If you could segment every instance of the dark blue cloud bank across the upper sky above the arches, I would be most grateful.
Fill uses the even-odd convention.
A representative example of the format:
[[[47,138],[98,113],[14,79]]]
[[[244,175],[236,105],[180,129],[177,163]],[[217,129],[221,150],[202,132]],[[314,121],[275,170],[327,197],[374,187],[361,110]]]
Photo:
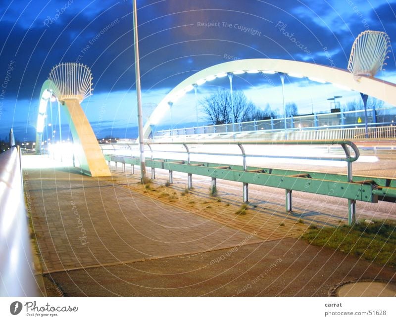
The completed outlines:
[[[17,97],[15,106],[31,99],[34,109],[43,82],[59,62],[90,66],[97,93],[135,87],[132,2],[74,0],[67,8],[66,3],[1,5],[0,85],[8,72],[5,95]],[[143,89],[173,88],[198,70],[231,59],[281,58],[329,66],[330,55],[335,66],[346,68],[365,24],[386,31],[395,45],[395,2],[370,3],[360,3],[356,12],[347,1],[336,0],[138,0]],[[387,69],[395,68],[392,52]],[[4,113],[10,109],[4,106]]]

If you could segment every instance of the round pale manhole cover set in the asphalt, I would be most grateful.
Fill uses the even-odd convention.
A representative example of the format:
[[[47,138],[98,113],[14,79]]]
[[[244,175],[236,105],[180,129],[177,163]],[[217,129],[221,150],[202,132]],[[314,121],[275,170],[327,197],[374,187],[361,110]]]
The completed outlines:
[[[337,296],[396,296],[396,284],[384,281],[348,282],[337,288]]]

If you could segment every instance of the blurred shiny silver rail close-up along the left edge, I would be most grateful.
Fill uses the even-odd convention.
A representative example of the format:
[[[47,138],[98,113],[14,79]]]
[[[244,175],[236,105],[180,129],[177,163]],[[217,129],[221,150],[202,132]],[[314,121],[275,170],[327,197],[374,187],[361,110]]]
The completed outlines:
[[[0,154],[0,296],[37,296],[19,147]]]

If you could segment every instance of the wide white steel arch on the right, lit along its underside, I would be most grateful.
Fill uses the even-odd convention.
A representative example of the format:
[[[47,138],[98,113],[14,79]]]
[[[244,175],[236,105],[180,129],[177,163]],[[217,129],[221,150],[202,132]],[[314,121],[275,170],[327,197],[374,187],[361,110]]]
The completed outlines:
[[[396,106],[396,84],[384,80],[362,76],[360,82],[356,82],[348,70],[308,62],[283,59],[241,59],[211,66],[198,71],[182,81],[154,109],[143,129],[143,137],[145,139],[149,137],[151,125],[159,122],[164,113],[169,109],[169,102],[174,103],[186,92],[193,90],[195,84],[200,85],[215,78],[226,77],[227,73],[236,71],[241,73],[246,71],[261,71],[264,73],[300,75],[314,81],[328,82],[339,87],[362,92]]]

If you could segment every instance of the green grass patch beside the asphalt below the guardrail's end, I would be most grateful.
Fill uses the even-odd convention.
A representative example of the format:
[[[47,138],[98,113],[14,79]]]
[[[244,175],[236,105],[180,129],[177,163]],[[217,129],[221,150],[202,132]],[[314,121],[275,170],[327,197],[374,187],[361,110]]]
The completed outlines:
[[[396,267],[396,221],[308,229],[301,238],[313,245],[327,246],[370,262]]]

